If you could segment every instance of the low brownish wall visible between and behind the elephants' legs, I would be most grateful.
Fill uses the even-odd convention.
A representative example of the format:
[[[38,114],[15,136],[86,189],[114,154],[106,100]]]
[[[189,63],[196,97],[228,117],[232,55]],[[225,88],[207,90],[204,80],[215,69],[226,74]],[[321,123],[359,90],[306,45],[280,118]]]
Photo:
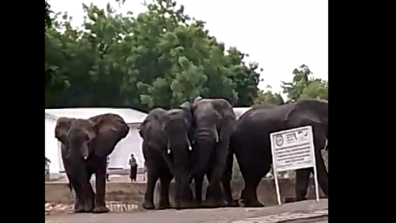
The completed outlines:
[[[280,193],[282,197],[282,201],[284,201],[285,197],[294,197],[294,180],[295,179],[279,179],[279,187]],[[173,183],[171,184],[170,193],[171,193],[171,203],[173,204],[173,194],[174,187]],[[157,186],[159,186],[157,184]],[[243,180],[233,180],[232,181],[232,191],[233,197],[235,199],[240,197],[240,193],[244,187]],[[133,182],[108,182],[107,183],[107,201],[121,201],[121,202],[130,202],[130,203],[138,203],[141,204],[143,201],[144,193],[146,189],[145,183],[133,183]],[[205,193],[206,185],[204,186]],[[159,187],[156,187],[155,190],[155,203],[158,202],[158,192]],[[322,191],[319,189],[319,193],[321,195]],[[70,191],[68,184],[65,182],[46,182],[45,183],[45,201],[52,203],[72,203],[73,198],[70,196]],[[262,179],[257,188],[257,196],[260,202],[265,203],[266,205],[276,205],[277,197],[275,190],[275,182],[271,179]],[[311,178],[309,189],[308,189],[308,198],[315,198],[315,190],[313,179]]]

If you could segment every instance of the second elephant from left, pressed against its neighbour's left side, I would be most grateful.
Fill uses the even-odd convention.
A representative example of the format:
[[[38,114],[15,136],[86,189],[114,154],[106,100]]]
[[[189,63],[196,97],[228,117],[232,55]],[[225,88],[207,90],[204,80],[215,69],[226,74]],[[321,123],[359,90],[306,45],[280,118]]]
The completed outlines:
[[[154,209],[154,189],[160,180],[157,209],[170,208],[169,185],[176,180],[175,208],[192,207],[192,192],[188,182],[188,132],[191,114],[184,109],[154,108],[140,126],[143,156],[147,166],[147,187],[143,207]]]

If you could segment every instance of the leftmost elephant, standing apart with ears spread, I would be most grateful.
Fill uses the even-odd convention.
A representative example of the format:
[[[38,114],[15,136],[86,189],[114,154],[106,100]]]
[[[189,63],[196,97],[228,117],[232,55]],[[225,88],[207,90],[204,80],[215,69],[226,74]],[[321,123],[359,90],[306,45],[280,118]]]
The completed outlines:
[[[89,119],[57,119],[55,137],[62,143],[64,170],[70,187],[76,192],[76,213],[109,211],[105,202],[106,159],[128,132],[128,125],[116,114],[103,114]],[[89,182],[93,173],[96,178],[96,194]]]

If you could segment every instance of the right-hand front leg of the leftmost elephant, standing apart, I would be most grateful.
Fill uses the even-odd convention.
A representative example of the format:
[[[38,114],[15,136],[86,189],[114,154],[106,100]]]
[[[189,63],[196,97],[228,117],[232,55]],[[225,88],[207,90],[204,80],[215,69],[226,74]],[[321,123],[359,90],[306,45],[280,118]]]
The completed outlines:
[[[93,213],[107,213],[109,208],[106,207],[106,158],[101,159],[96,164],[95,169],[95,184],[96,184],[96,195],[95,195],[95,208]]]

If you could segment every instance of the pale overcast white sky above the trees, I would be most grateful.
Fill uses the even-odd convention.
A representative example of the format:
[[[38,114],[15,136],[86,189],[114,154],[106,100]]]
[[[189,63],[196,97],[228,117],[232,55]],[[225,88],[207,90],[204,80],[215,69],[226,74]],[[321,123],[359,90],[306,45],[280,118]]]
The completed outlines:
[[[54,12],[67,11],[73,25],[84,15],[81,4],[95,3],[100,8],[113,0],[50,0]],[[144,12],[143,1],[127,0],[119,12]],[[148,1],[149,2],[149,1]],[[210,34],[226,46],[237,46],[257,61],[264,70],[261,89],[271,85],[281,91],[280,81],[290,81],[292,71],[301,64],[309,66],[316,78],[328,76],[328,1],[327,0],[178,0],[185,13],[207,22]],[[118,7],[117,7],[118,8]]]

